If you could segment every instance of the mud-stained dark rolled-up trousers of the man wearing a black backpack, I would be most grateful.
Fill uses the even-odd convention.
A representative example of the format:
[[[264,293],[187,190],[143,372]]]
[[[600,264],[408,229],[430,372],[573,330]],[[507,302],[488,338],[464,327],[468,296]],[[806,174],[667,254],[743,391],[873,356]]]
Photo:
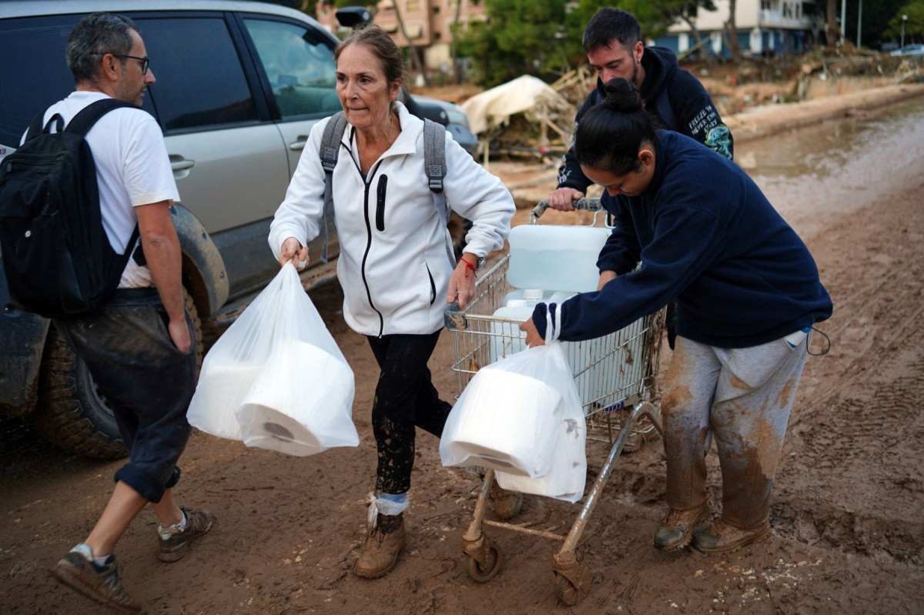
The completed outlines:
[[[55,320],[116,415],[128,449],[116,481],[152,502],[179,479],[176,460],[189,439],[186,412],[196,388],[195,346],[177,350],[168,321],[153,288],[119,289],[97,313]]]

